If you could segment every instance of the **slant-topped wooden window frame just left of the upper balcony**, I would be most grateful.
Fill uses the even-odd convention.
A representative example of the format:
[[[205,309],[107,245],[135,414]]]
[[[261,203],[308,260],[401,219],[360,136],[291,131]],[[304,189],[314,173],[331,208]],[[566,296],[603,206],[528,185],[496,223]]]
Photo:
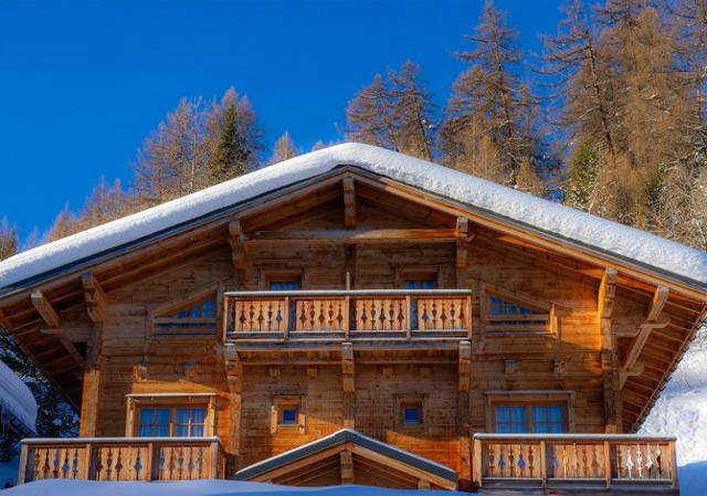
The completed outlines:
[[[191,293],[178,299],[173,299],[148,310],[147,321],[152,338],[208,338],[213,339],[221,335],[221,318],[223,314],[223,284],[214,284],[203,289]],[[213,299],[213,318],[204,318],[203,323],[211,327],[177,327],[175,329],[160,328],[160,324],[189,324],[184,319],[168,317],[178,312],[187,310],[208,299]]]

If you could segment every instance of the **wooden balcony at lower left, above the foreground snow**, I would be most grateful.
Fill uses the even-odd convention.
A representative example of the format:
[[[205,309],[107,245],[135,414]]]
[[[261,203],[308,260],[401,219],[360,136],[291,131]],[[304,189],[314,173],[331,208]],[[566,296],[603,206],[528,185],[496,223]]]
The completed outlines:
[[[223,478],[218,437],[73,437],[22,441],[18,484],[46,478],[196,481]]]

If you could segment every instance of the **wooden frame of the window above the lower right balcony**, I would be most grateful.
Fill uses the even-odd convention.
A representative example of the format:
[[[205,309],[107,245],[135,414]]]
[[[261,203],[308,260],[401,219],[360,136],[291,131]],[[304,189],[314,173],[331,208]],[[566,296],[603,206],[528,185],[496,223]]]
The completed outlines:
[[[574,392],[573,391],[486,391],[486,431],[496,432],[496,407],[560,405],[564,409],[564,432],[574,432]],[[528,433],[532,433],[531,411],[526,415]]]

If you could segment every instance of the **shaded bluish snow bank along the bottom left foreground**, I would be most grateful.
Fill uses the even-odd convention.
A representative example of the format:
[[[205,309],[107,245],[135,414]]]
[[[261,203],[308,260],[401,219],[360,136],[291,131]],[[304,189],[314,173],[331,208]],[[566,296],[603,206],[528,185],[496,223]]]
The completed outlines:
[[[381,489],[367,486],[292,487],[240,481],[190,481],[179,483],[96,483],[88,481],[41,481],[7,489],[2,496],[440,496],[445,492]],[[453,494],[453,493],[447,493]],[[458,493],[455,493],[458,494]]]

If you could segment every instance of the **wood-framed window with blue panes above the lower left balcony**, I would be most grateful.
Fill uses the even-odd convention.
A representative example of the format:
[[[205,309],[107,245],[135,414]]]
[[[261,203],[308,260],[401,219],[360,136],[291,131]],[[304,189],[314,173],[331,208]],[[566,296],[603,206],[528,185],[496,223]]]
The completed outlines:
[[[215,394],[127,394],[126,436],[213,435]]]

